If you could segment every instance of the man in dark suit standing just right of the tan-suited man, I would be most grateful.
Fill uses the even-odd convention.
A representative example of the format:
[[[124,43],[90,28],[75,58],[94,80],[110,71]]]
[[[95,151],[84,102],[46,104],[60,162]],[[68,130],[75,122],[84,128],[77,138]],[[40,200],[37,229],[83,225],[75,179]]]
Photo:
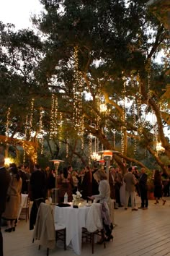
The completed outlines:
[[[148,209],[148,186],[147,186],[148,175],[146,174],[146,169],[141,168],[141,175],[139,178],[139,188],[140,188],[140,199],[141,206],[139,209]]]

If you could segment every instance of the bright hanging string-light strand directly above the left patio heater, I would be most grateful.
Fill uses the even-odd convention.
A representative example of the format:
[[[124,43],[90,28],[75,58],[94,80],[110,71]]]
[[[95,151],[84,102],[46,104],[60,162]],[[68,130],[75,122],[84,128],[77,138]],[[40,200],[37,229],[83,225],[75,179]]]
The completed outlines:
[[[57,135],[57,115],[58,115],[58,98],[57,95],[51,95],[51,111],[50,111],[50,139]]]

